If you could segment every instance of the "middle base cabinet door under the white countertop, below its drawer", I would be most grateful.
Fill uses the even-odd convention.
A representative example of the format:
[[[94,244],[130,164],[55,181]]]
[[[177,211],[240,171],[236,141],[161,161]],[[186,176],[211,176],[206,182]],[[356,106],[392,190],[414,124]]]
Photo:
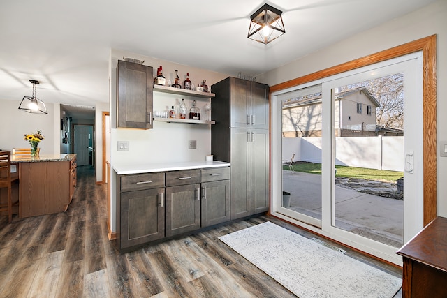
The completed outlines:
[[[166,187],[166,237],[200,228],[200,184]]]

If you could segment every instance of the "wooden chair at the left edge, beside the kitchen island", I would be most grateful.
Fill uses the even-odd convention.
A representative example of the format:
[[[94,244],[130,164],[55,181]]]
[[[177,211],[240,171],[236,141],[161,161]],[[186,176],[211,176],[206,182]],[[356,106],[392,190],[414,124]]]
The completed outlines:
[[[0,151],[0,188],[8,189],[8,202],[0,204],[0,211],[8,211],[8,222],[13,221],[13,182],[19,177],[11,173],[11,152]]]

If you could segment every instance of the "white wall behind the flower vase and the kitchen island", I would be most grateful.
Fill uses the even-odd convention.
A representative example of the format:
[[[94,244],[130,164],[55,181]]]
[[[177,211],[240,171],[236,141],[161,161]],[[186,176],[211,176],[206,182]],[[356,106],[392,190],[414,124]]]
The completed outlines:
[[[0,149],[30,147],[24,134],[40,130],[45,137],[39,144],[41,154],[59,154],[59,104],[45,103],[48,114],[23,112],[18,109],[19,105],[20,100],[0,100]]]

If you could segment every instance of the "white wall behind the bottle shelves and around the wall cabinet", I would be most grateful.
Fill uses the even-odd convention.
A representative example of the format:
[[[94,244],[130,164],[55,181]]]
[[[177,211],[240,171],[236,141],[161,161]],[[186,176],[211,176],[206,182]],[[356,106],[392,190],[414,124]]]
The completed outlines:
[[[211,154],[211,128],[210,125],[197,124],[175,124],[154,122],[154,128],[149,130],[116,128],[116,68],[118,60],[123,57],[143,60],[144,65],[154,68],[163,66],[163,75],[166,81],[170,79],[174,84],[175,70],[178,70],[180,83],[182,84],[189,73],[189,78],[194,85],[206,80],[208,87],[219,82],[227,74],[214,73],[209,70],[194,68],[183,64],[175,64],[170,61],[146,57],[140,54],[124,52],[121,50],[110,51],[110,162],[113,165],[118,164],[141,164],[141,163],[170,163],[181,161],[204,161],[205,156]],[[212,90],[211,90],[212,92]],[[202,117],[205,117],[205,103],[210,99],[198,99],[190,96],[179,96],[172,94],[163,94],[154,92],[154,111],[167,110],[172,105],[178,105],[184,98],[188,109],[191,107],[192,100],[197,100]],[[196,140],[197,149],[188,149],[188,141]],[[128,141],[129,151],[118,151],[117,142]],[[116,202],[116,181],[112,177],[110,181],[111,195],[111,229],[116,231],[115,223],[115,202]]]

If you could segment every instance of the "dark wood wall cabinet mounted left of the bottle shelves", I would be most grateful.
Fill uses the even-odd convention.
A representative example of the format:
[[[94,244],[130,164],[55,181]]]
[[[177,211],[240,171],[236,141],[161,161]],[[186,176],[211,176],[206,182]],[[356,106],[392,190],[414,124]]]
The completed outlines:
[[[151,66],[118,61],[118,128],[152,128],[152,71]]]

